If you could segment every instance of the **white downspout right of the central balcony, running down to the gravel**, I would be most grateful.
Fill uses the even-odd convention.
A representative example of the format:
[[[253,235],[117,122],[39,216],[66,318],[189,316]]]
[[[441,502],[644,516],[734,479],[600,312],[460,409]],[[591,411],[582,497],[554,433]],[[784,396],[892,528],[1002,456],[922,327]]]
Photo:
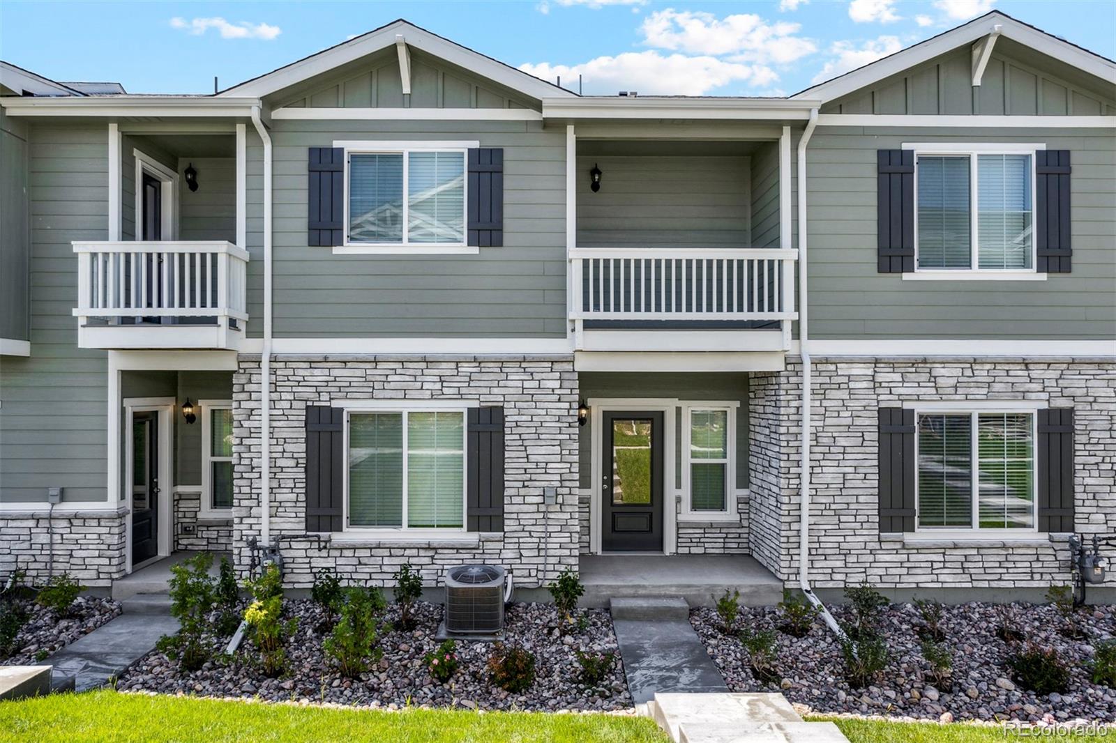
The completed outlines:
[[[818,125],[818,109],[810,109],[810,120],[798,141],[798,344],[802,357],[802,445],[799,475],[801,513],[799,518],[800,533],[798,537],[798,587],[806,598],[818,608],[821,618],[838,637],[844,637],[837,620],[810,588],[810,349],[807,342],[807,301],[806,290],[806,146],[814,136]]]

